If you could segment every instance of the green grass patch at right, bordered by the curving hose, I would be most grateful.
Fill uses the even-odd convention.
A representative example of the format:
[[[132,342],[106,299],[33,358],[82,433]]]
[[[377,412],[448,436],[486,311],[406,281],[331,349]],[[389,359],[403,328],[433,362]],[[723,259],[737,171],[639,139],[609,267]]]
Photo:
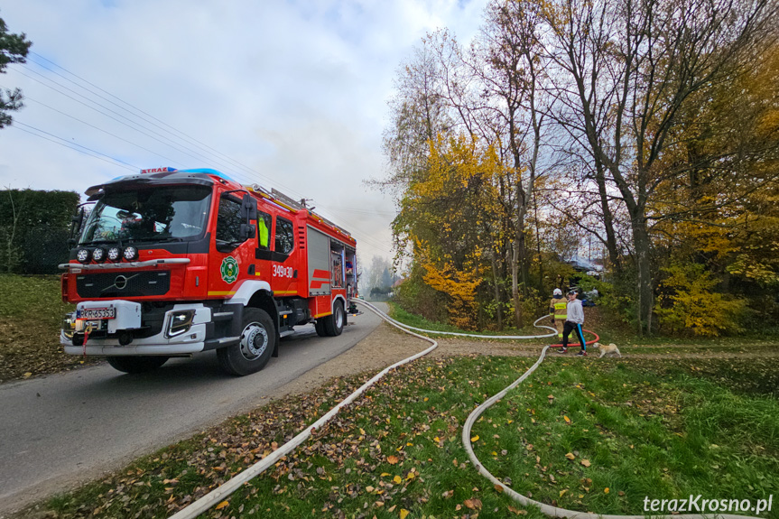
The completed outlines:
[[[522,494],[570,509],[640,514],[645,496],[755,500],[779,488],[775,398],[631,361],[557,359],[533,378],[474,428],[479,458]],[[505,445],[524,449],[501,455]]]

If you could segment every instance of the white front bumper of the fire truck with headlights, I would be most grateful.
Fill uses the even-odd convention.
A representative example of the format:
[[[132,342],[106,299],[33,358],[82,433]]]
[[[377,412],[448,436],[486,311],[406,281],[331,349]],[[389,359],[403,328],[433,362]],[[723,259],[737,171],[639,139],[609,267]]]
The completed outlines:
[[[143,331],[144,316],[140,303],[124,300],[87,301],[80,302],[77,306],[77,310],[81,312],[105,308],[116,309],[116,318],[104,321],[76,320],[75,313],[70,314],[70,319],[66,320],[69,324],[60,331],[60,344],[65,353],[88,356],[172,356],[188,355],[205,348],[207,325],[211,322],[212,312],[202,303],[172,305],[164,312],[162,329],[145,337],[147,334]],[[173,318],[180,316],[182,312],[187,313],[186,310],[190,310],[191,315],[189,326],[172,332]],[[96,330],[94,336],[88,336],[86,345],[77,346],[79,342],[83,343],[82,330],[90,323],[91,328]],[[76,344],[74,338],[77,339]]]

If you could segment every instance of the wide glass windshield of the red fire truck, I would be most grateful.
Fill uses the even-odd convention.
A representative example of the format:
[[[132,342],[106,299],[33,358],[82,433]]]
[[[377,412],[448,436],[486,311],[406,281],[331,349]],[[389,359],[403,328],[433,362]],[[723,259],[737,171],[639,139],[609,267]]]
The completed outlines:
[[[97,201],[79,244],[184,241],[203,235],[211,190],[200,186],[109,191]]]

